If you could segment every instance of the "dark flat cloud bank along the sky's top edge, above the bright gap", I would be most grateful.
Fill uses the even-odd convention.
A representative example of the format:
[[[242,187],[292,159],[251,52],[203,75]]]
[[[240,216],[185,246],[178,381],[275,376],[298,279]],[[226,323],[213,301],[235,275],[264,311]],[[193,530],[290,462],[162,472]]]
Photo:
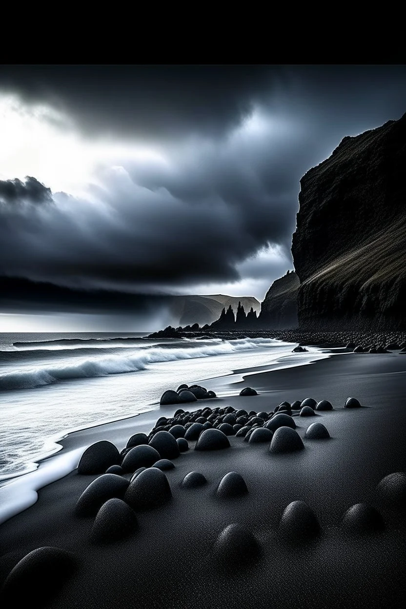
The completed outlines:
[[[0,90],[68,111],[99,135],[225,133],[278,82],[275,66],[0,66]]]

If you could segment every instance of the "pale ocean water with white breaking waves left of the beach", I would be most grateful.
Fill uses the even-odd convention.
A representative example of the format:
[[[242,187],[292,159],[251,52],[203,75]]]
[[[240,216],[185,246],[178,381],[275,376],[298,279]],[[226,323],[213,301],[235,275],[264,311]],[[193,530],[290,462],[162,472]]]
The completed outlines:
[[[0,334],[0,484],[35,470],[68,432],[157,408],[162,393],[183,382],[217,379],[208,389],[229,395],[241,379],[233,371],[309,363],[292,354],[293,343],[274,339],[146,336]]]

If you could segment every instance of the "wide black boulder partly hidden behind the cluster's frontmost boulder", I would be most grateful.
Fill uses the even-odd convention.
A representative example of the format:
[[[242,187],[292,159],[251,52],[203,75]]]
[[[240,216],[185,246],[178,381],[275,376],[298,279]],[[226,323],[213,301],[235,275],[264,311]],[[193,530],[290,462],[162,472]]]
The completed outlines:
[[[108,499],[124,497],[128,484],[128,480],[116,474],[99,476],[80,495],[75,505],[75,514],[94,516]]]

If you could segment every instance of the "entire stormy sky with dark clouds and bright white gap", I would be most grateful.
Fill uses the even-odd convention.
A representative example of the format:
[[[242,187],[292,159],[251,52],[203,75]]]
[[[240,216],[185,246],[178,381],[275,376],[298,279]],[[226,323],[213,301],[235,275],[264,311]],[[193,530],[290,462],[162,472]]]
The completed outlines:
[[[0,66],[0,331],[262,300],[301,176],[405,111],[405,66]]]

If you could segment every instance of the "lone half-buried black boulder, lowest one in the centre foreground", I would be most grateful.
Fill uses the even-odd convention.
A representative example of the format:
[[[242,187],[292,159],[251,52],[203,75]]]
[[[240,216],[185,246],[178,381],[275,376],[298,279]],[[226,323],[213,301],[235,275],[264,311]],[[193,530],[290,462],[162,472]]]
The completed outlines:
[[[240,524],[229,524],[215,541],[213,553],[223,565],[233,568],[256,560],[261,549],[250,530]]]

